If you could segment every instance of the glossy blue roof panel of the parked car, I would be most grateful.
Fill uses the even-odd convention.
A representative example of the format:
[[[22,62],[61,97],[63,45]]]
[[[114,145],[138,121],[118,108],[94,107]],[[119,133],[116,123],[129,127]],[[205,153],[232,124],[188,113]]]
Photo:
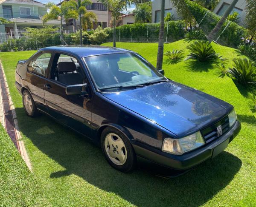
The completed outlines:
[[[58,51],[69,54],[74,54],[79,57],[90,57],[95,55],[103,54],[116,54],[116,53],[133,53],[133,51],[122,49],[122,48],[112,48],[98,45],[67,45],[67,46],[52,46],[47,48],[42,48],[39,51]]]

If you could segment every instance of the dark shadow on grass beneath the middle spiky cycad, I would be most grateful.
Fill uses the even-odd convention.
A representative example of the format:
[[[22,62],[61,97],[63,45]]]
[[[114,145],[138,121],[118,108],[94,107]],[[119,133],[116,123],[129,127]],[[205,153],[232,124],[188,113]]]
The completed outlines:
[[[209,70],[212,70],[216,68],[215,62],[198,62],[194,60],[187,60],[186,66],[188,71],[193,72],[208,72]]]

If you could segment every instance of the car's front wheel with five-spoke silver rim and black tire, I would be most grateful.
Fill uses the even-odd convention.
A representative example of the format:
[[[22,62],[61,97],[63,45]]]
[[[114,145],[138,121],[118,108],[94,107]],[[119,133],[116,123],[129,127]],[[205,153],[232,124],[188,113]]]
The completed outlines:
[[[130,141],[115,128],[105,128],[101,134],[101,147],[108,163],[123,173],[130,172],[136,165],[136,156]]]

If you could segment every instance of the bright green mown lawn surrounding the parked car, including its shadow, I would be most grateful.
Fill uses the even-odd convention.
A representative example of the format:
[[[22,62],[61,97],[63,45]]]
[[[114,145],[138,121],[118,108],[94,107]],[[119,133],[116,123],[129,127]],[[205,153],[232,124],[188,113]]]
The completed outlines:
[[[165,44],[165,51],[186,50],[186,45],[184,40]],[[232,48],[212,45],[229,60],[238,55]],[[117,47],[137,51],[156,65],[155,43],[117,43]],[[241,132],[215,159],[178,178],[162,179],[145,170],[129,174],[113,170],[101,150],[83,137],[47,116],[26,116],[14,70],[17,60],[34,52],[1,53],[0,58],[34,177],[52,206],[256,206],[256,119],[248,99],[230,78],[218,77],[220,71],[214,66],[180,62],[163,68],[166,77],[234,105]]]

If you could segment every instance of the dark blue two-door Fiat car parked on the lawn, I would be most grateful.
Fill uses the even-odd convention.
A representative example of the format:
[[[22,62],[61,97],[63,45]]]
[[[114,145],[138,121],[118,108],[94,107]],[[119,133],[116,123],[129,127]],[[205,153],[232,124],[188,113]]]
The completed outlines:
[[[241,125],[232,105],[163,76],[139,54],[49,47],[16,68],[29,116],[46,113],[101,145],[109,164],[187,170],[223,151]]]

